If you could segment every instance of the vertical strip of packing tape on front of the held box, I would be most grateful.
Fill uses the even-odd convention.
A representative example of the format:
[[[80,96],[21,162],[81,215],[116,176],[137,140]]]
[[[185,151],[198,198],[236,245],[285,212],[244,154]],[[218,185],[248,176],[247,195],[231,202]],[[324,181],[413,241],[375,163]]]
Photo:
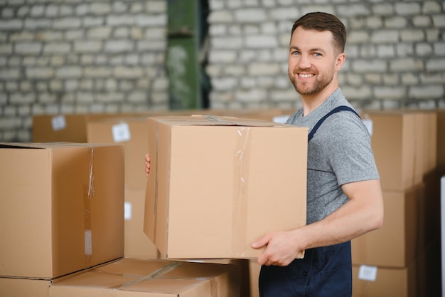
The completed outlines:
[[[245,253],[247,242],[247,198],[250,170],[250,127],[240,127],[237,130],[237,150],[234,156],[233,189],[232,195],[232,249],[237,256]]]

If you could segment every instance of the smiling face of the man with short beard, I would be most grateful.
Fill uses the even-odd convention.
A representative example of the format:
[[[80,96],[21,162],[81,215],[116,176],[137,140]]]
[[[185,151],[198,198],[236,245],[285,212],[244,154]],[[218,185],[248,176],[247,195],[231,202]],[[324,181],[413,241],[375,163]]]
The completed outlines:
[[[289,78],[301,95],[315,95],[333,81],[338,55],[330,31],[297,27],[289,45]]]

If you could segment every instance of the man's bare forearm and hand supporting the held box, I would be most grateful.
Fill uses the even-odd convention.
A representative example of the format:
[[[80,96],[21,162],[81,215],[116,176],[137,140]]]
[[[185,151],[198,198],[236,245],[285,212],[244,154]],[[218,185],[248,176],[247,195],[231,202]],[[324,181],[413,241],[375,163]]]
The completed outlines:
[[[349,201],[318,222],[289,231],[274,231],[252,244],[266,246],[258,263],[286,266],[299,251],[340,244],[379,229],[383,224],[383,197],[378,179],[343,184]]]

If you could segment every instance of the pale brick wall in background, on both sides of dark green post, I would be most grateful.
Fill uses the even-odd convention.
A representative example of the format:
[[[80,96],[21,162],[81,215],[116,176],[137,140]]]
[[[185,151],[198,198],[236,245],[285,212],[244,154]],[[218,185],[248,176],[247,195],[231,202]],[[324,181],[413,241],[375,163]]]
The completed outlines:
[[[348,28],[343,93],[357,108],[445,108],[441,1],[208,0],[212,108],[297,108],[293,22]],[[166,0],[0,0],[0,141],[31,141],[32,116],[168,108]]]

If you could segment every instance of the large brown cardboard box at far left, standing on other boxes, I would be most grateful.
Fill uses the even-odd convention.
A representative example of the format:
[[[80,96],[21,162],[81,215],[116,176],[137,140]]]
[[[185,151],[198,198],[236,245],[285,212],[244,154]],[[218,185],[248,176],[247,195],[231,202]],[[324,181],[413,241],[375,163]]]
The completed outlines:
[[[0,276],[50,279],[124,254],[121,145],[0,144]]]

